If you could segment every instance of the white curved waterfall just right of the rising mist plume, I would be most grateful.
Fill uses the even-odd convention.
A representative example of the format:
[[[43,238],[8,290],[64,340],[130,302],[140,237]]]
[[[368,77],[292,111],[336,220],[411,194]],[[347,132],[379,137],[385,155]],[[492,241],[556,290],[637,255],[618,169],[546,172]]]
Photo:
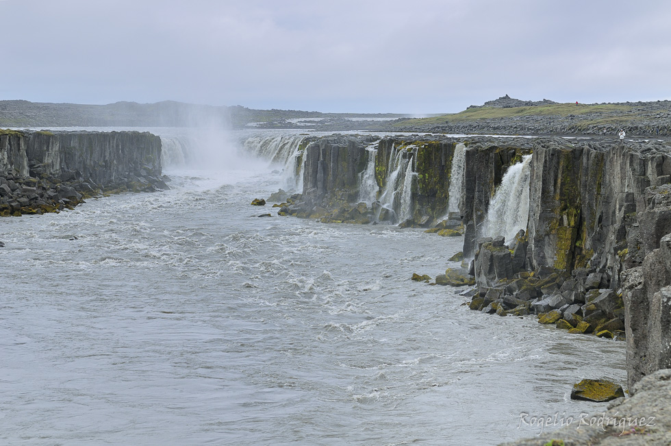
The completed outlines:
[[[252,136],[242,143],[244,151],[283,166],[283,187],[290,190],[303,190],[303,167],[305,151],[301,143],[305,136]]]

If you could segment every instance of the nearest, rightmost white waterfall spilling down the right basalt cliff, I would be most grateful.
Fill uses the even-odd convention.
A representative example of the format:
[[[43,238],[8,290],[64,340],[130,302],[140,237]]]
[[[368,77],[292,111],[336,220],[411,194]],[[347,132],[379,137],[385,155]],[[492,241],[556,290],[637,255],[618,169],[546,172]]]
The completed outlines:
[[[520,230],[527,230],[529,219],[529,179],[531,155],[508,168],[501,186],[490,201],[485,222],[485,236],[504,236],[506,244],[514,240]]]

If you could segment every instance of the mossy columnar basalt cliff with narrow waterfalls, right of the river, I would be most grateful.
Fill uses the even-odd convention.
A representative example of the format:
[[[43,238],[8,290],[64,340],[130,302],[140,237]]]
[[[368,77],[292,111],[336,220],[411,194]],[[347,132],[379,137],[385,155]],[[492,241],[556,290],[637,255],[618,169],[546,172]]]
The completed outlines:
[[[669,367],[664,287],[671,267],[663,259],[671,251],[660,245],[671,232],[666,143],[332,136],[307,145],[303,194],[279,213],[446,227],[457,145],[465,148],[458,223],[479,285],[470,308],[535,312],[574,333],[626,332],[630,385]],[[527,195],[507,199],[527,199],[528,217],[504,240],[490,211],[506,175],[524,171],[522,162],[529,163]],[[521,201],[514,206],[526,209]]]

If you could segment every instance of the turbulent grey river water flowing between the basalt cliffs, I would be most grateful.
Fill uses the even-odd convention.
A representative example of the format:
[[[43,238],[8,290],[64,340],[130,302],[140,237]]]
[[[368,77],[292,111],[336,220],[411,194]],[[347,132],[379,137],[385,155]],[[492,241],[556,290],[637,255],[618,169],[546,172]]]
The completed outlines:
[[[273,169],[168,166],[168,191],[0,220],[1,443],[492,445],[624,382],[624,343],[409,280],[459,238],[250,206]]]

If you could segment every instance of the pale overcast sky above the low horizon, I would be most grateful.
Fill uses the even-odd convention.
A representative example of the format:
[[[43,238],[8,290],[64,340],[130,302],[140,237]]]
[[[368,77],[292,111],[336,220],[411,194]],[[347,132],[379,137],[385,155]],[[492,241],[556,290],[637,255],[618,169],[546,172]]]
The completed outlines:
[[[667,0],[0,0],[0,100],[459,112],[671,99]]]

